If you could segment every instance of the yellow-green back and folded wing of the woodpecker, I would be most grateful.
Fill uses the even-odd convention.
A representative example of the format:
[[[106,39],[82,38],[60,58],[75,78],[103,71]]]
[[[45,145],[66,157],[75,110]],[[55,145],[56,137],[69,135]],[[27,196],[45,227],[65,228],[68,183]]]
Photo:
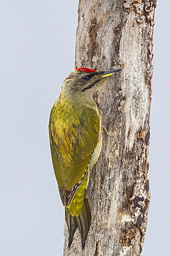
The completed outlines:
[[[98,144],[100,118],[92,107],[61,106],[50,114],[50,148],[63,205],[69,205]]]

